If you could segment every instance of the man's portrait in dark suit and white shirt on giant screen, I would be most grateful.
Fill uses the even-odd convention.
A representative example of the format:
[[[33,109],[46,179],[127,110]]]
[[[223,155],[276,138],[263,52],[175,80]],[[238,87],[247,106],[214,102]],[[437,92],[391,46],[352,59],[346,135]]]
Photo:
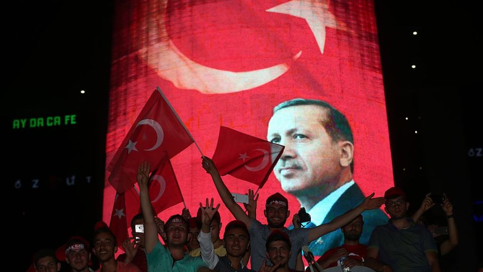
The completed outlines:
[[[285,146],[274,168],[282,189],[311,216],[306,228],[328,223],[359,205],[364,195],[353,179],[354,139],[347,118],[327,102],[293,99],[280,103],[268,124],[267,139]],[[375,226],[387,223],[379,209],[365,211],[360,238],[367,244]],[[344,243],[340,230],[310,244],[315,255]]]

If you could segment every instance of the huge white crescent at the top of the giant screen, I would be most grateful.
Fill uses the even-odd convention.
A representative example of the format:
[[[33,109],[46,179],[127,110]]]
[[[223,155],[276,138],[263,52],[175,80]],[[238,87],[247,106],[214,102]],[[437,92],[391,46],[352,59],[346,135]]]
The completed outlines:
[[[231,72],[201,65],[185,54],[169,39],[165,26],[168,1],[162,1],[164,7],[160,15],[159,36],[162,41],[139,50],[142,59],[153,67],[157,75],[173,83],[178,89],[197,90],[203,94],[234,93],[257,88],[285,74],[293,61],[302,51],[290,60],[249,72]]]

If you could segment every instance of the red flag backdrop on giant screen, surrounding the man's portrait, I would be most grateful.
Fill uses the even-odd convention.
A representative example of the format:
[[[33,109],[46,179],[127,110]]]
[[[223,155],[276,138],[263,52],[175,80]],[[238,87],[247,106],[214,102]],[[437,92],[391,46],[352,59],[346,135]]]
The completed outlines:
[[[325,100],[352,127],[354,180],[362,191],[382,195],[392,184],[373,1],[131,0],[116,2],[113,26],[108,163],[160,86],[207,156],[220,125],[265,139],[280,102]],[[194,145],[171,161],[192,212],[205,197],[220,201]],[[233,192],[256,188],[223,179]],[[105,219],[113,191],[106,181]],[[275,191],[283,192],[271,174],[261,201]],[[297,211],[298,201],[284,195]],[[181,210],[177,205],[160,218]],[[220,213],[223,222],[232,220],[225,208]]]

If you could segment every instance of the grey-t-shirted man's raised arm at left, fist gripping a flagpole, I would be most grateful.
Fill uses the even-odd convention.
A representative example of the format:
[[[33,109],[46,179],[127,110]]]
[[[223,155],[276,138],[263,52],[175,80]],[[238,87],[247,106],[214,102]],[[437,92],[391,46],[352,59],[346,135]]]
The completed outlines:
[[[235,202],[235,200],[233,200],[233,196],[231,195],[226,185],[223,183],[223,180],[221,180],[220,173],[218,173],[218,169],[216,169],[213,161],[208,157],[202,158],[202,166],[206,170],[206,173],[211,175],[216,190],[218,191],[221,200],[223,201],[226,208],[228,208],[228,210],[236,218],[236,220],[243,221],[250,229],[250,227],[252,226],[252,219],[247,214],[245,214],[243,209],[241,209],[241,207]]]

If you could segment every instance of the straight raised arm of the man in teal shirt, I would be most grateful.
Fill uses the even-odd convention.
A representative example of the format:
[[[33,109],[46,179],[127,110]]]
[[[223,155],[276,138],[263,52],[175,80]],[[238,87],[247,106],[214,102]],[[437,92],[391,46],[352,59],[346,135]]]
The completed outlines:
[[[142,217],[144,219],[144,249],[151,252],[157,242],[157,226],[154,222],[151,200],[149,199],[148,181],[151,164],[141,163],[137,168],[137,183],[139,184],[139,198],[141,200]]]

